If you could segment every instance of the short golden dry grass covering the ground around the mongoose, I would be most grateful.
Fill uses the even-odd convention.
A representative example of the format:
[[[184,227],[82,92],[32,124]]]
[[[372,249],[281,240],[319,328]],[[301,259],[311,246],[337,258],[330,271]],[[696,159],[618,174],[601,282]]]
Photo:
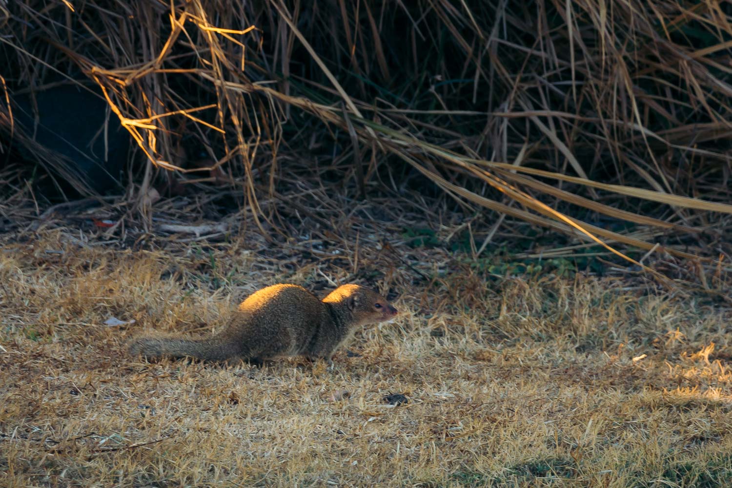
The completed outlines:
[[[209,333],[255,288],[347,273],[286,271],[246,240],[100,242],[4,238],[4,487],[732,483],[731,312],[711,302],[579,274],[489,282],[455,260],[411,284],[362,244],[359,266],[384,271],[403,314],[357,334],[361,356],[340,351],[333,371],[147,364],[121,349],[144,328]],[[386,405],[392,393],[408,403]]]

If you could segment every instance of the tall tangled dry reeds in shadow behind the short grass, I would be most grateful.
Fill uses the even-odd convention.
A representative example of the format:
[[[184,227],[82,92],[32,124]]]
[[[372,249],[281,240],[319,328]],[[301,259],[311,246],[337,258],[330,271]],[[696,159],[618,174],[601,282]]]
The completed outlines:
[[[725,294],[727,3],[32,0],[0,13],[9,94],[72,78],[130,132],[145,163],[123,181],[124,225],[152,228],[159,194],[241,206],[271,232],[261,203],[302,180],[438,189],[665,285],[646,253],[700,257],[681,285]],[[43,200],[22,183],[45,177],[38,162],[83,191],[37,152],[4,173],[11,209]]]

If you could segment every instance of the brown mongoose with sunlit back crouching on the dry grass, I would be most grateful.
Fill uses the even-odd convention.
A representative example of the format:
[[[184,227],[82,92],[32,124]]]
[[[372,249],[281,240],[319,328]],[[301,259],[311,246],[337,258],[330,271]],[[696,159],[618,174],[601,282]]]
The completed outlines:
[[[391,320],[397,309],[373,290],[343,285],[323,300],[298,285],[255,291],[218,334],[203,339],[143,336],[132,339],[132,356],[191,356],[208,361],[261,363],[283,356],[331,360],[360,326]]]

